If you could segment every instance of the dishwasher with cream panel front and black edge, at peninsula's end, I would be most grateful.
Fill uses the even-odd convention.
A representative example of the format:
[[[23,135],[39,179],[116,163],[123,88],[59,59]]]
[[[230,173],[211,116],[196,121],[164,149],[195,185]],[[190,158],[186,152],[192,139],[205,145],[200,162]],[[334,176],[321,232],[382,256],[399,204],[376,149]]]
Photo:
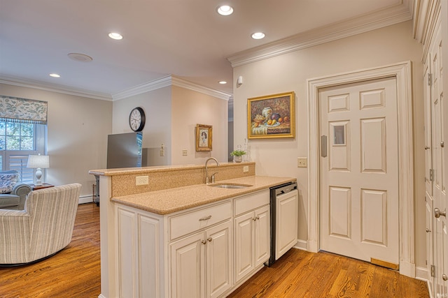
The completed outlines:
[[[297,183],[289,182],[270,188],[271,256],[267,266],[297,243]]]

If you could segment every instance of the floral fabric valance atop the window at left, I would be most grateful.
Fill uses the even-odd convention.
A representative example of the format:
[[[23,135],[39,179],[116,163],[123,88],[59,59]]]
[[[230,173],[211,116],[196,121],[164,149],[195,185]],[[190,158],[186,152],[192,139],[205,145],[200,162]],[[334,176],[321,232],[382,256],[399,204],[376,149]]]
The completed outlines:
[[[47,102],[0,95],[0,120],[47,124]]]

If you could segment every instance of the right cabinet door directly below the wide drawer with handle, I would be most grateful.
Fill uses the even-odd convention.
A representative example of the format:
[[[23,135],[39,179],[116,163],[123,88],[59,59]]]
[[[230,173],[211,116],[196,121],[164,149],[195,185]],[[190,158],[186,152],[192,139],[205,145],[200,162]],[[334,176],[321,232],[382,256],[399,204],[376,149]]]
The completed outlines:
[[[227,221],[206,231],[207,297],[218,297],[232,285],[231,230],[232,221]]]

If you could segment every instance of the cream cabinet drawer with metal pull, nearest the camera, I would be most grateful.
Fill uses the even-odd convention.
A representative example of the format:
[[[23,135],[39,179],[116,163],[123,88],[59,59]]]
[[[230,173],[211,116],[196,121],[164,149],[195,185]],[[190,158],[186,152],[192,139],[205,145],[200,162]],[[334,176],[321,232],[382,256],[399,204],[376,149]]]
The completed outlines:
[[[176,239],[232,217],[230,201],[169,218],[170,239]]]

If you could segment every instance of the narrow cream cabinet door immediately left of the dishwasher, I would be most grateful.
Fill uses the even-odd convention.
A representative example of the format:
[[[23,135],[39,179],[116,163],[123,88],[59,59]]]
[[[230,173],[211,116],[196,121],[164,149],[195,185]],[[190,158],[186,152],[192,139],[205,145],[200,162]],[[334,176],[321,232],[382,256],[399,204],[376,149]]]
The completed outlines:
[[[269,260],[269,206],[255,210],[255,267]]]

